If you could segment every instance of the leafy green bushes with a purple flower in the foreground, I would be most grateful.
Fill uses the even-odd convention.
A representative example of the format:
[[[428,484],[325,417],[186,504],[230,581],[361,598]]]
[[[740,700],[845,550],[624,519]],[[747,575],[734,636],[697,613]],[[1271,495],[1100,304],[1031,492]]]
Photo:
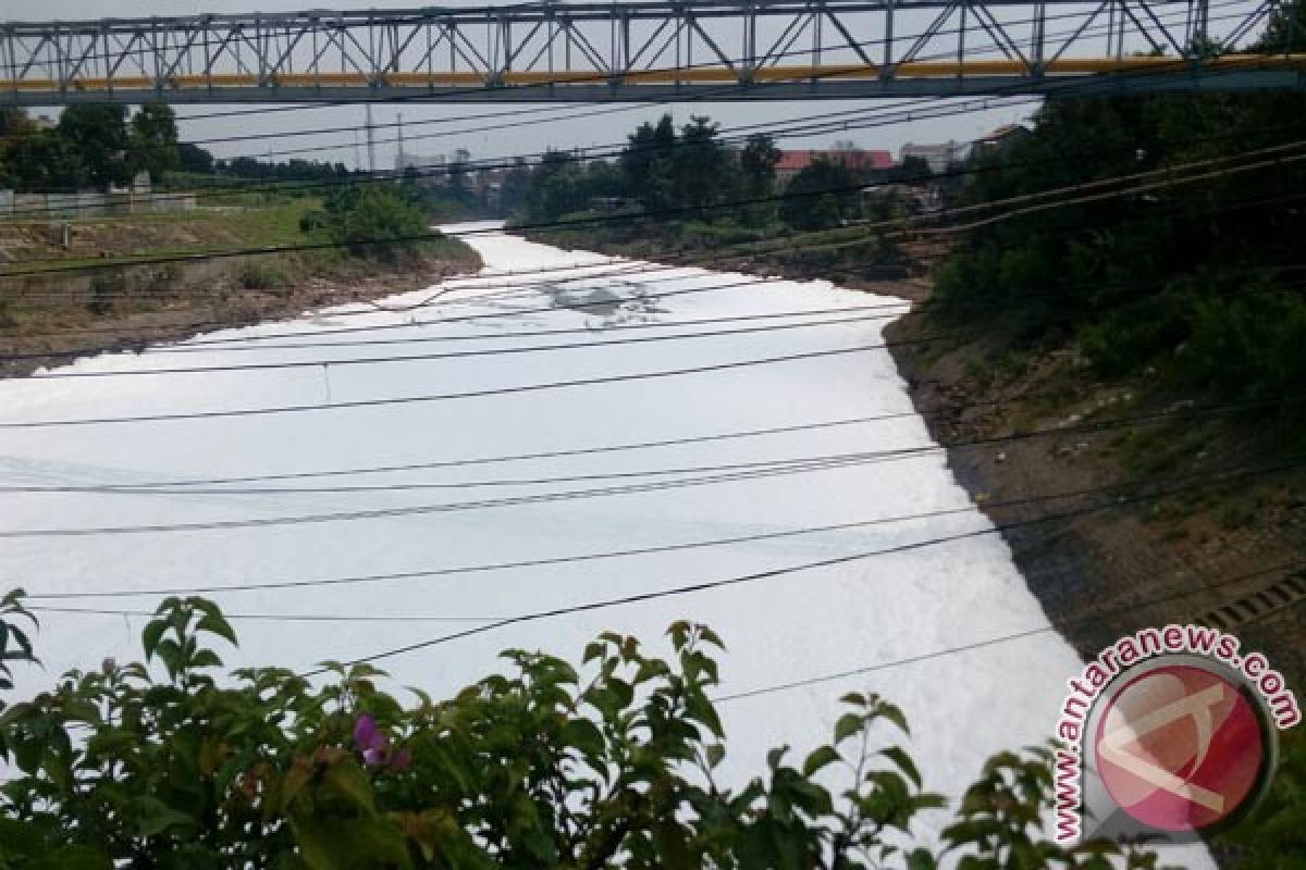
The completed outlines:
[[[21,593],[0,601],[4,681],[31,659]],[[673,657],[603,634],[580,669],[539,652],[435,700],[401,703],[366,664],[323,680],[219,674],[236,635],[212,603],[168,599],[145,663],[104,661],[0,711],[0,867],[964,867],[1106,870],[1114,847],[1045,839],[1045,749],[990,759],[943,831],[913,844],[922,789],[891,703],[842,698],[833,741],[717,783],[720,639],[687,622]],[[829,783],[845,783],[831,788]],[[1258,845],[1258,849],[1262,847]],[[1128,867],[1155,856],[1126,853]]]

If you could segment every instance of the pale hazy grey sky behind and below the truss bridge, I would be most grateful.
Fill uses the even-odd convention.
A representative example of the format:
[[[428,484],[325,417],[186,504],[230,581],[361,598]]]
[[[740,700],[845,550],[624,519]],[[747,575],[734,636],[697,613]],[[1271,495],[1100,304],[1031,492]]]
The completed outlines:
[[[106,4],[103,0],[4,0],[3,14],[8,20],[55,20],[55,18],[97,18],[111,13],[114,17],[133,16],[167,16],[192,14],[201,12],[290,12],[300,9],[307,4],[287,3],[285,0],[115,0]],[[324,4],[326,5],[326,4]],[[334,0],[332,8],[371,9],[384,8],[385,4],[375,0]],[[398,4],[392,4],[398,5]],[[409,4],[404,4],[409,5]],[[445,0],[443,5],[485,5],[483,3],[457,3]],[[550,108],[541,112],[537,106],[418,106],[405,103],[404,106],[379,103],[374,106],[372,115],[377,124],[390,124],[400,111],[405,121],[405,151],[418,155],[434,155],[452,153],[457,147],[468,149],[474,158],[502,158],[515,154],[538,153],[549,146],[559,147],[593,147],[619,142],[626,133],[633,129],[640,121],[656,119],[662,112],[671,112],[678,123],[683,123],[690,115],[709,115],[721,123],[724,128],[744,124],[782,124],[786,120],[814,115],[819,112],[833,112],[852,108],[868,108],[876,112],[896,113],[899,119],[883,125],[835,133],[829,136],[785,138],[781,147],[827,147],[835,140],[846,138],[866,149],[885,149],[895,154],[904,142],[936,142],[944,140],[973,140],[985,132],[1021,117],[1028,117],[1036,108],[1033,103],[955,115],[952,117],[930,120],[905,120],[901,112],[912,107],[917,113],[938,112],[944,100],[838,100],[838,102],[790,102],[790,103],[673,103],[665,106],[629,106],[620,107],[622,111],[609,112],[615,108],[613,104],[585,106],[569,104]],[[289,112],[265,112],[257,115],[243,115],[223,119],[204,119],[185,121],[189,115],[202,115],[221,111],[218,106],[179,106],[178,113],[183,119],[182,137],[184,140],[206,140],[223,136],[240,136],[247,133],[290,133],[311,130],[324,127],[362,127],[364,123],[363,106],[303,108]],[[597,115],[594,112],[598,111]],[[526,113],[522,113],[526,112]],[[457,121],[469,115],[494,113],[496,117],[481,117],[475,120]],[[581,115],[582,117],[568,116]],[[584,117],[589,115],[589,117]],[[499,120],[502,117],[502,120]],[[558,120],[551,120],[558,119]],[[492,127],[509,120],[530,120],[530,124],[513,129],[471,129]],[[423,124],[423,121],[440,121],[438,124]],[[452,121],[452,123],[447,123]],[[535,123],[547,121],[547,123]],[[466,130],[466,132],[464,132]],[[394,138],[393,128],[376,130],[377,140]],[[355,146],[353,133],[320,133],[313,136],[278,137],[259,142],[229,142],[209,143],[212,151],[222,157],[240,154],[268,155],[269,151],[285,151],[287,149],[336,146],[332,150],[300,154],[299,157],[341,160],[350,166],[355,164]],[[367,160],[367,150],[363,142],[366,137],[358,134],[359,146],[357,149],[363,163]],[[376,146],[377,168],[393,166],[397,145],[394,142],[379,142]],[[279,159],[293,157],[290,154],[274,155]]]

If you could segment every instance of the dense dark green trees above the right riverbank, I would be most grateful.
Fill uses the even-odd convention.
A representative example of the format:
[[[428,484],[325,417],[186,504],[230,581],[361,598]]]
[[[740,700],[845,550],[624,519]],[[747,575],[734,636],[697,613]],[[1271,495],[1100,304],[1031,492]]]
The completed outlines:
[[[1251,51],[1284,50],[1302,23],[1301,7],[1276,12]],[[981,159],[963,198],[982,203],[1212,158],[1237,164],[1247,151],[1302,140],[1299,90],[1049,99],[1032,136]],[[1303,197],[1306,167],[1282,160],[1016,214],[965,236],[938,275],[936,301],[944,317],[1000,321],[1028,346],[1072,347],[1104,378],[1151,369],[1171,386],[1299,417]]]

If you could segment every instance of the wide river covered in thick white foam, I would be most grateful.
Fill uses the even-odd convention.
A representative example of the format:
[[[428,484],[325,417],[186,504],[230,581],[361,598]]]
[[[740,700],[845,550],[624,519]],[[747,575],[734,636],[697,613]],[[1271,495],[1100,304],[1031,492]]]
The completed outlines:
[[[507,647],[538,647],[579,660],[588,639],[611,629],[665,648],[666,626],[691,618],[710,625],[729,647],[721,695],[870,668],[724,702],[730,750],[725,772],[734,780],[760,770],[771,746],[790,743],[804,753],[828,740],[840,713],[837,698],[852,690],[876,691],[904,707],[927,785],[948,796],[960,794],[993,751],[1050,734],[1064,681],[1077,667],[1060,637],[1043,631],[932,655],[1037,629],[1045,620],[999,536],[957,537],[990,523],[974,510],[942,453],[866,455],[930,446],[893,361],[876,347],[888,317],[904,310],[897,300],[820,282],[631,267],[491,232],[487,224],[462,230],[479,232],[468,241],[486,262],[485,278],[380,303],[390,310],[351,305],[141,355],[82,360],[55,374],[313,365],[0,383],[0,423],[283,406],[315,410],[5,428],[0,429],[0,480],[121,487],[791,430],[569,457],[246,480],[213,484],[200,493],[174,487],[153,494],[0,494],[5,587],[24,586],[34,593],[223,587],[754,539],[529,569],[210,595],[226,610],[246,617],[409,620],[235,621],[242,646],[226,656],[227,664],[304,668],[475,625],[438,618],[516,616],[921,544],[769,579],[511,625],[381,664],[397,683],[421,685],[439,697],[491,672],[496,652]],[[520,274],[504,274],[508,270]],[[593,277],[613,271],[624,274]],[[585,274],[592,277],[577,280]],[[720,320],[743,316],[754,320]],[[825,322],[832,318],[844,322]],[[756,330],[794,322],[816,325]],[[614,329],[632,325],[652,326]],[[585,331],[538,334],[575,329]],[[624,340],[724,330],[754,331]],[[393,343],[407,339],[431,340]],[[614,344],[614,339],[623,343]],[[363,343],[377,340],[387,343]],[[294,347],[306,343],[312,347]],[[451,351],[562,343],[579,347],[448,356]],[[345,363],[432,353],[444,356]],[[704,368],[709,370],[611,380]],[[589,383],[534,389],[564,381]],[[475,395],[448,398],[468,393]],[[407,400],[431,395],[447,398]],[[396,398],[406,400],[387,402]],[[859,417],[879,419],[842,423]],[[793,429],[808,424],[821,425]],[[757,464],[747,466],[748,473],[720,468],[814,458],[825,466]],[[669,470],[675,471],[629,476]],[[759,470],[768,473],[752,473]],[[597,477],[610,473],[623,476]],[[569,480],[547,480],[559,476]],[[716,479],[704,483],[705,476]],[[546,483],[530,483],[539,479]],[[394,483],[478,485],[285,492]],[[260,488],[281,492],[248,492]],[[575,496],[594,489],[607,492]],[[461,506],[451,510],[448,505]],[[390,509],[384,517],[338,517]],[[930,513],[935,515],[757,540],[797,528]],[[286,518],[312,519],[263,523]],[[176,528],[195,523],[226,524]],[[123,531],[142,526],[172,528]],[[953,540],[927,544],[939,537]],[[157,596],[38,604],[141,610],[151,609]],[[21,673],[18,693],[48,685],[65,668],[138,655],[142,625],[144,618],[132,614],[43,613],[37,643],[44,670]],[[904,663],[913,659],[918,660]],[[880,668],[885,663],[899,664]]]

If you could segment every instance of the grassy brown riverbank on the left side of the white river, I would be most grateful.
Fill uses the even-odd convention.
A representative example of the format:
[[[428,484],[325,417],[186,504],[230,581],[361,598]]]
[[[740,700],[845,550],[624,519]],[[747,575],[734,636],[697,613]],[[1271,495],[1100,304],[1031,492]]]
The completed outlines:
[[[419,290],[481,267],[479,256],[462,241],[435,239],[385,257],[323,249],[3,275],[135,254],[302,245],[315,240],[299,228],[313,205],[76,222],[68,247],[59,223],[0,223],[0,377]]]

